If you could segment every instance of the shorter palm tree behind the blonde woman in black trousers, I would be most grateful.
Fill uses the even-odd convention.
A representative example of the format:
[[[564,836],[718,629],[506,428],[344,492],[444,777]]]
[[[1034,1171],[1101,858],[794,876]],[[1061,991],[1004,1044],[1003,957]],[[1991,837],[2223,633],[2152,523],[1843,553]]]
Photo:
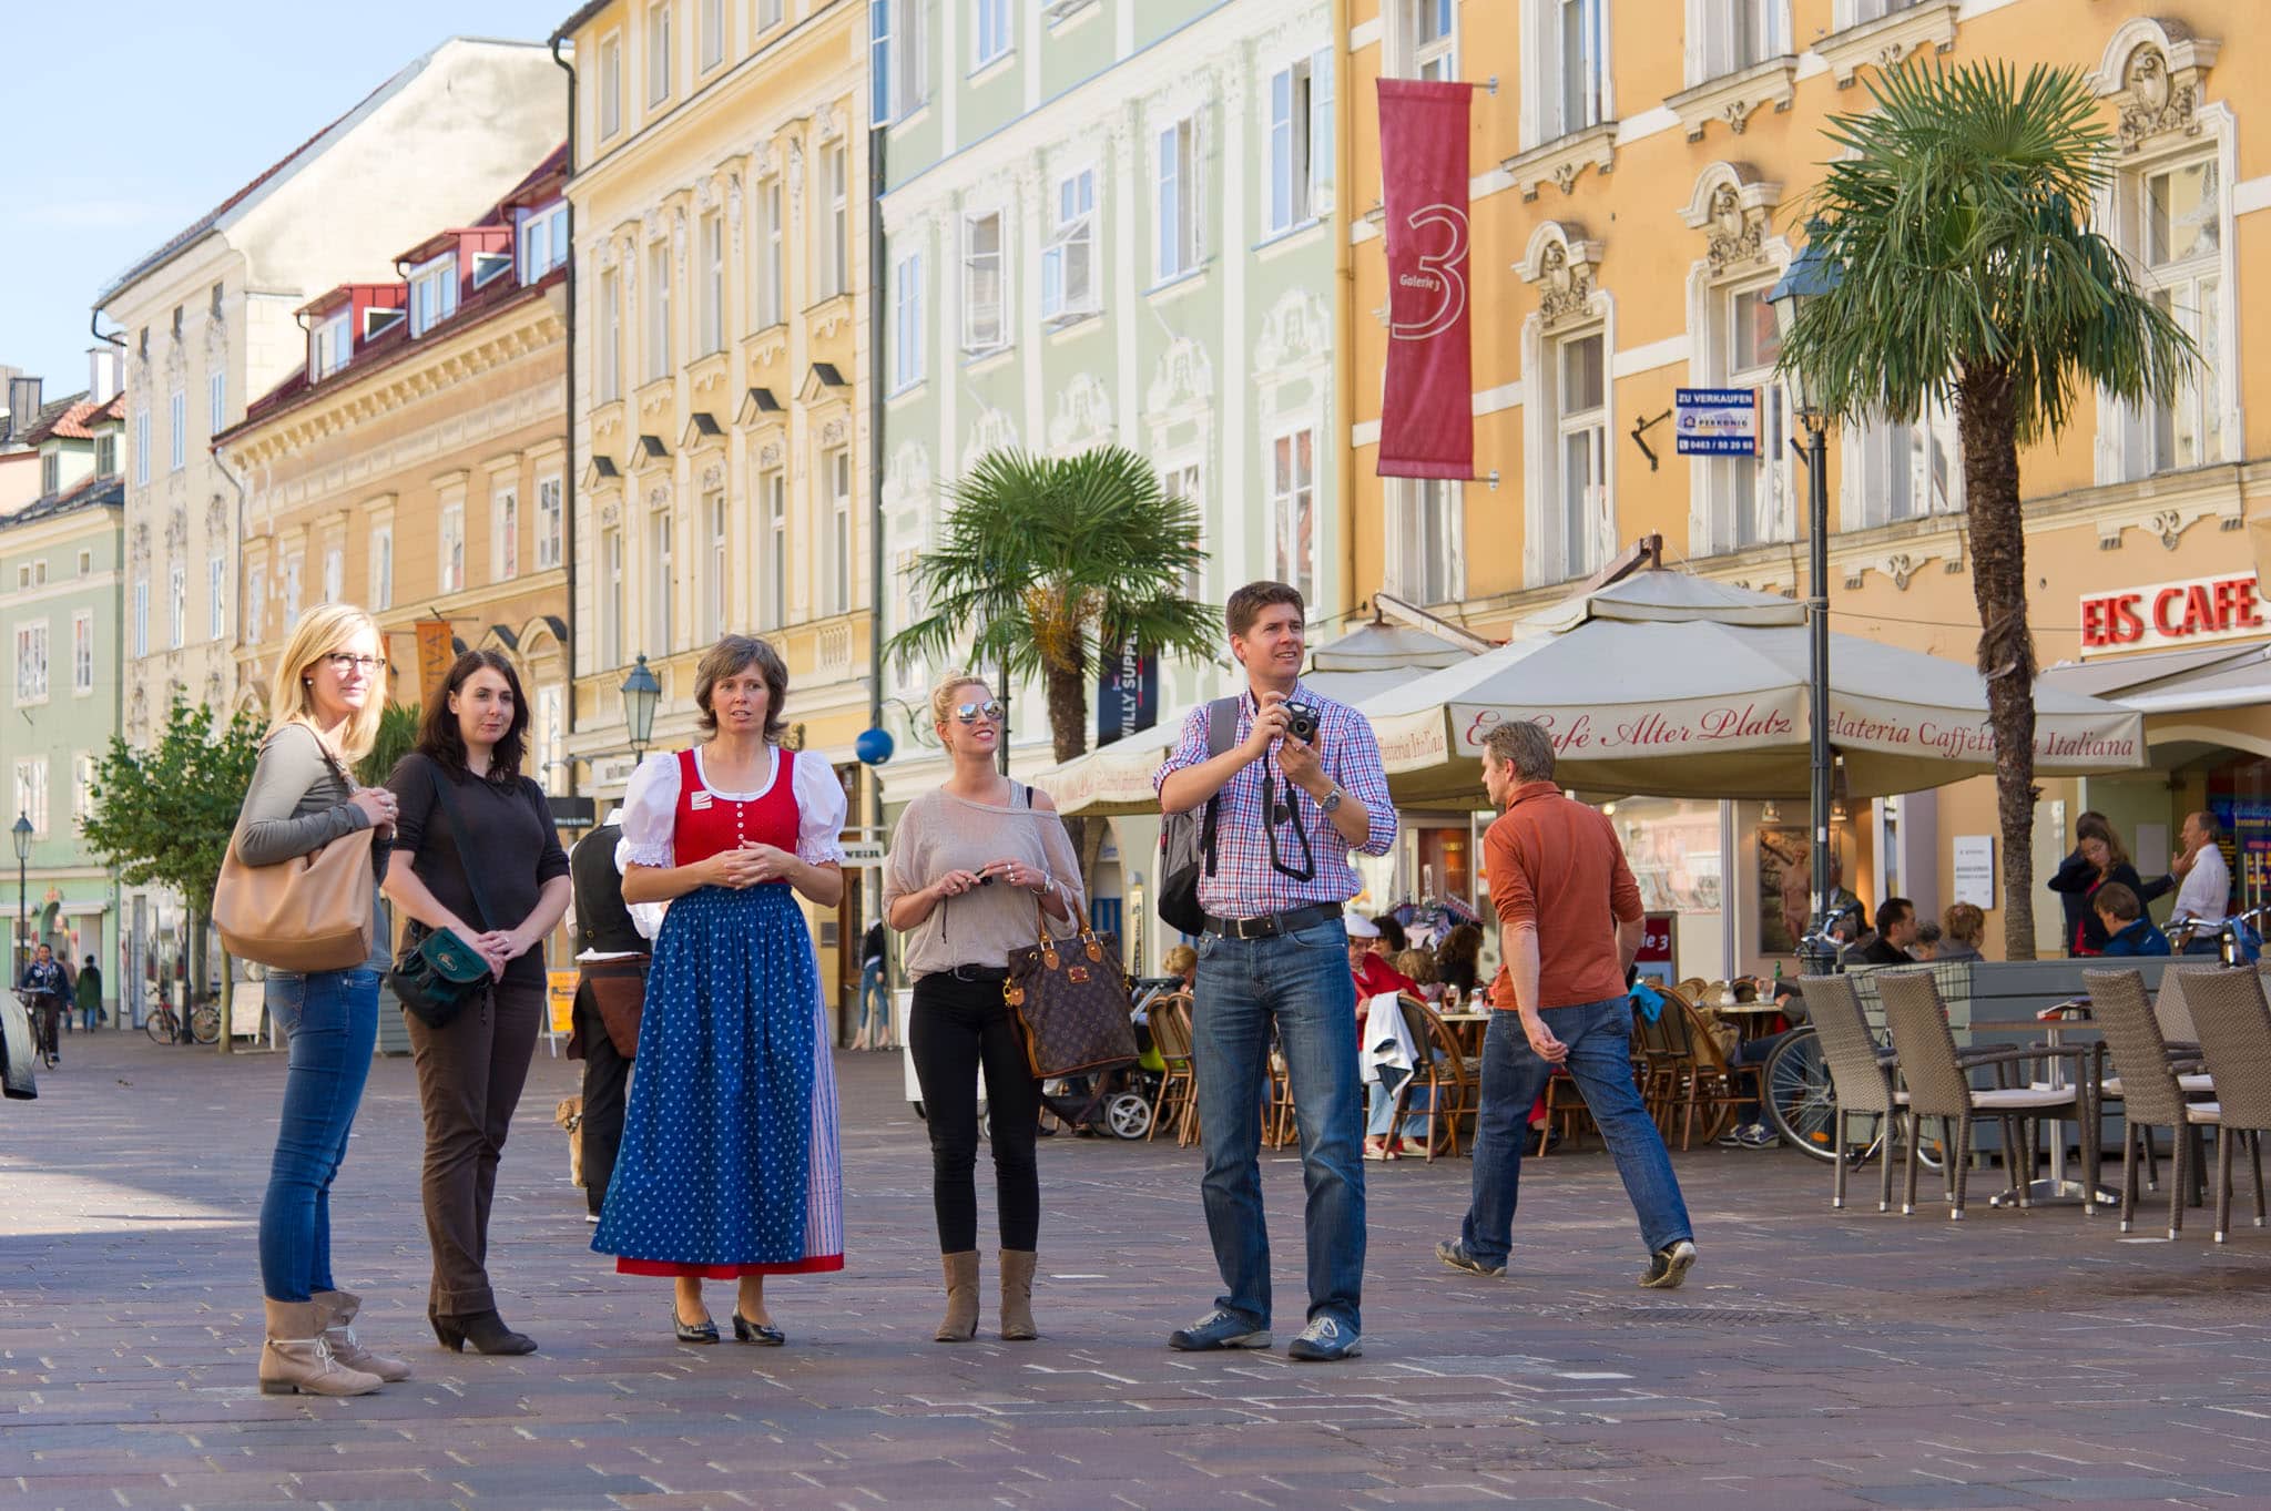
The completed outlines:
[[[1215,613],[1183,597],[1206,560],[1199,513],[1142,456],[988,451],[949,495],[942,540],[915,563],[929,615],[886,651],[949,658],[967,644],[972,667],[1038,676],[1058,762],[1088,751],[1088,681],[1104,647],[1215,653]],[[1086,869],[1095,858],[1072,830]]]

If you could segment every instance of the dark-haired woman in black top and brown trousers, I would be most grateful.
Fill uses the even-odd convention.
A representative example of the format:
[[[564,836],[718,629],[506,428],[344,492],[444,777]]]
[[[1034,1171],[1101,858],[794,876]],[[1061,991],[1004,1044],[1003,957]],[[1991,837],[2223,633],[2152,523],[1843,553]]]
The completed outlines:
[[[497,651],[466,651],[427,703],[418,749],[386,785],[402,803],[386,896],[488,960],[488,996],[441,1028],[409,1019],[425,1105],[425,1218],[434,1246],[427,1318],[443,1348],[527,1354],[488,1284],[497,1155],[529,1078],[545,1014],[543,942],[568,910],[568,855],[543,787],[520,774],[529,708]],[[441,787],[447,785],[447,801]],[[454,810],[454,819],[452,819]],[[459,842],[463,828],[463,844]],[[479,901],[466,876],[479,871]],[[484,903],[486,912],[484,917]]]

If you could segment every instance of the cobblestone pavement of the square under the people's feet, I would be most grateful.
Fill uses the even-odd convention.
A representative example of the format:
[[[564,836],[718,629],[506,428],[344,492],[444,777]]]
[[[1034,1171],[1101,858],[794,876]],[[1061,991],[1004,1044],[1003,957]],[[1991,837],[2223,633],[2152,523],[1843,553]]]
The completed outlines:
[[[1503,1282],[1431,1255],[1463,1159],[1367,1166],[1365,1354],[1297,1366],[1297,1162],[1265,1164],[1279,1350],[1188,1357],[1163,1339],[1215,1289],[1197,1153],[1058,1137],[1047,1336],[945,1348],[897,1055],[840,1062],[849,1268],[774,1282],[790,1348],[754,1350],[674,1345],[668,1286],[588,1252],[552,1128],[575,1069],[538,1053],[491,1246],[527,1359],[425,1334],[416,1084],[379,1062],[336,1255],[418,1377],[263,1398],[282,1060],[64,1050],[39,1103],[0,1105],[0,1506],[2271,1506],[2271,1232],[2246,1218],[2219,1252],[2203,1212],[2180,1243],[2071,1207],[1830,1214],[1821,1166],[1708,1148],[1676,1157],[1703,1261],[1653,1293],[1599,1153],[1531,1166]]]

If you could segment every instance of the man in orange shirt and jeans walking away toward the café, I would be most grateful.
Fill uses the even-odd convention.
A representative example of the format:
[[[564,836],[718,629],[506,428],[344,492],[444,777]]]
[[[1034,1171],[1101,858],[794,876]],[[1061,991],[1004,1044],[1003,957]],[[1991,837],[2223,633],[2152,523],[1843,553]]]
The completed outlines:
[[[1501,817],[1483,837],[1506,964],[1490,985],[1483,1109],[1474,1134],[1474,1200],[1458,1239],[1435,1257],[1469,1275],[1503,1275],[1522,1191],[1531,1103],[1567,1066],[1640,1214],[1649,1268],[1669,1291],[1696,1261],[1694,1227],[1671,1155],[1633,1084],[1633,1001],[1626,969],[1640,948],[1640,887],[1608,819],[1553,785],[1553,737],[1501,724],[1483,740],[1483,787]]]

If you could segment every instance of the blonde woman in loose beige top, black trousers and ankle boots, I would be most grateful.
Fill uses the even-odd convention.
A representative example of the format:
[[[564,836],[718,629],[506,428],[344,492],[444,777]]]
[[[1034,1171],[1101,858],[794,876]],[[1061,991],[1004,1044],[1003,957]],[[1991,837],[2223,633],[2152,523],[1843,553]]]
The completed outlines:
[[[954,774],[899,817],[883,864],[883,914],[906,935],[906,973],[915,980],[906,1046],[931,1130],[931,1205],[947,1277],[947,1316],[936,1339],[961,1343],[979,1329],[974,1173],[983,1066],[1002,1216],[1002,1336],[1026,1341],[1038,1336],[1040,1087],[1002,982],[1008,953],[1033,944],[1036,910],[1056,921],[1074,917],[1081,869],[1049,794],[997,771],[1008,731],[988,685],[967,672],[947,676],[931,690],[931,717]]]

